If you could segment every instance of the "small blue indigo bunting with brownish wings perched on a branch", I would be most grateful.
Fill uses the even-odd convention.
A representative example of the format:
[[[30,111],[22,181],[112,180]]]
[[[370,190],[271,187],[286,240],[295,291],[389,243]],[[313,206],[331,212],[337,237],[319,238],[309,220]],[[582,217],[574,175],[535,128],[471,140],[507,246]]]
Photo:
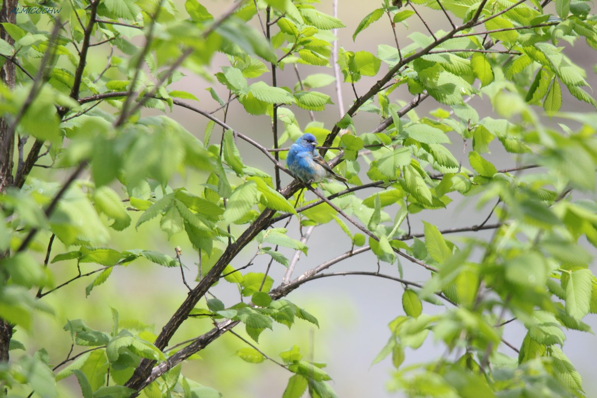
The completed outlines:
[[[288,158],[286,158],[286,165],[294,174],[294,177],[306,184],[319,183],[327,177],[333,177],[346,183],[346,178],[336,174],[330,165],[324,161],[324,158],[315,152],[316,146],[315,135],[308,132],[292,144],[288,152]]]

